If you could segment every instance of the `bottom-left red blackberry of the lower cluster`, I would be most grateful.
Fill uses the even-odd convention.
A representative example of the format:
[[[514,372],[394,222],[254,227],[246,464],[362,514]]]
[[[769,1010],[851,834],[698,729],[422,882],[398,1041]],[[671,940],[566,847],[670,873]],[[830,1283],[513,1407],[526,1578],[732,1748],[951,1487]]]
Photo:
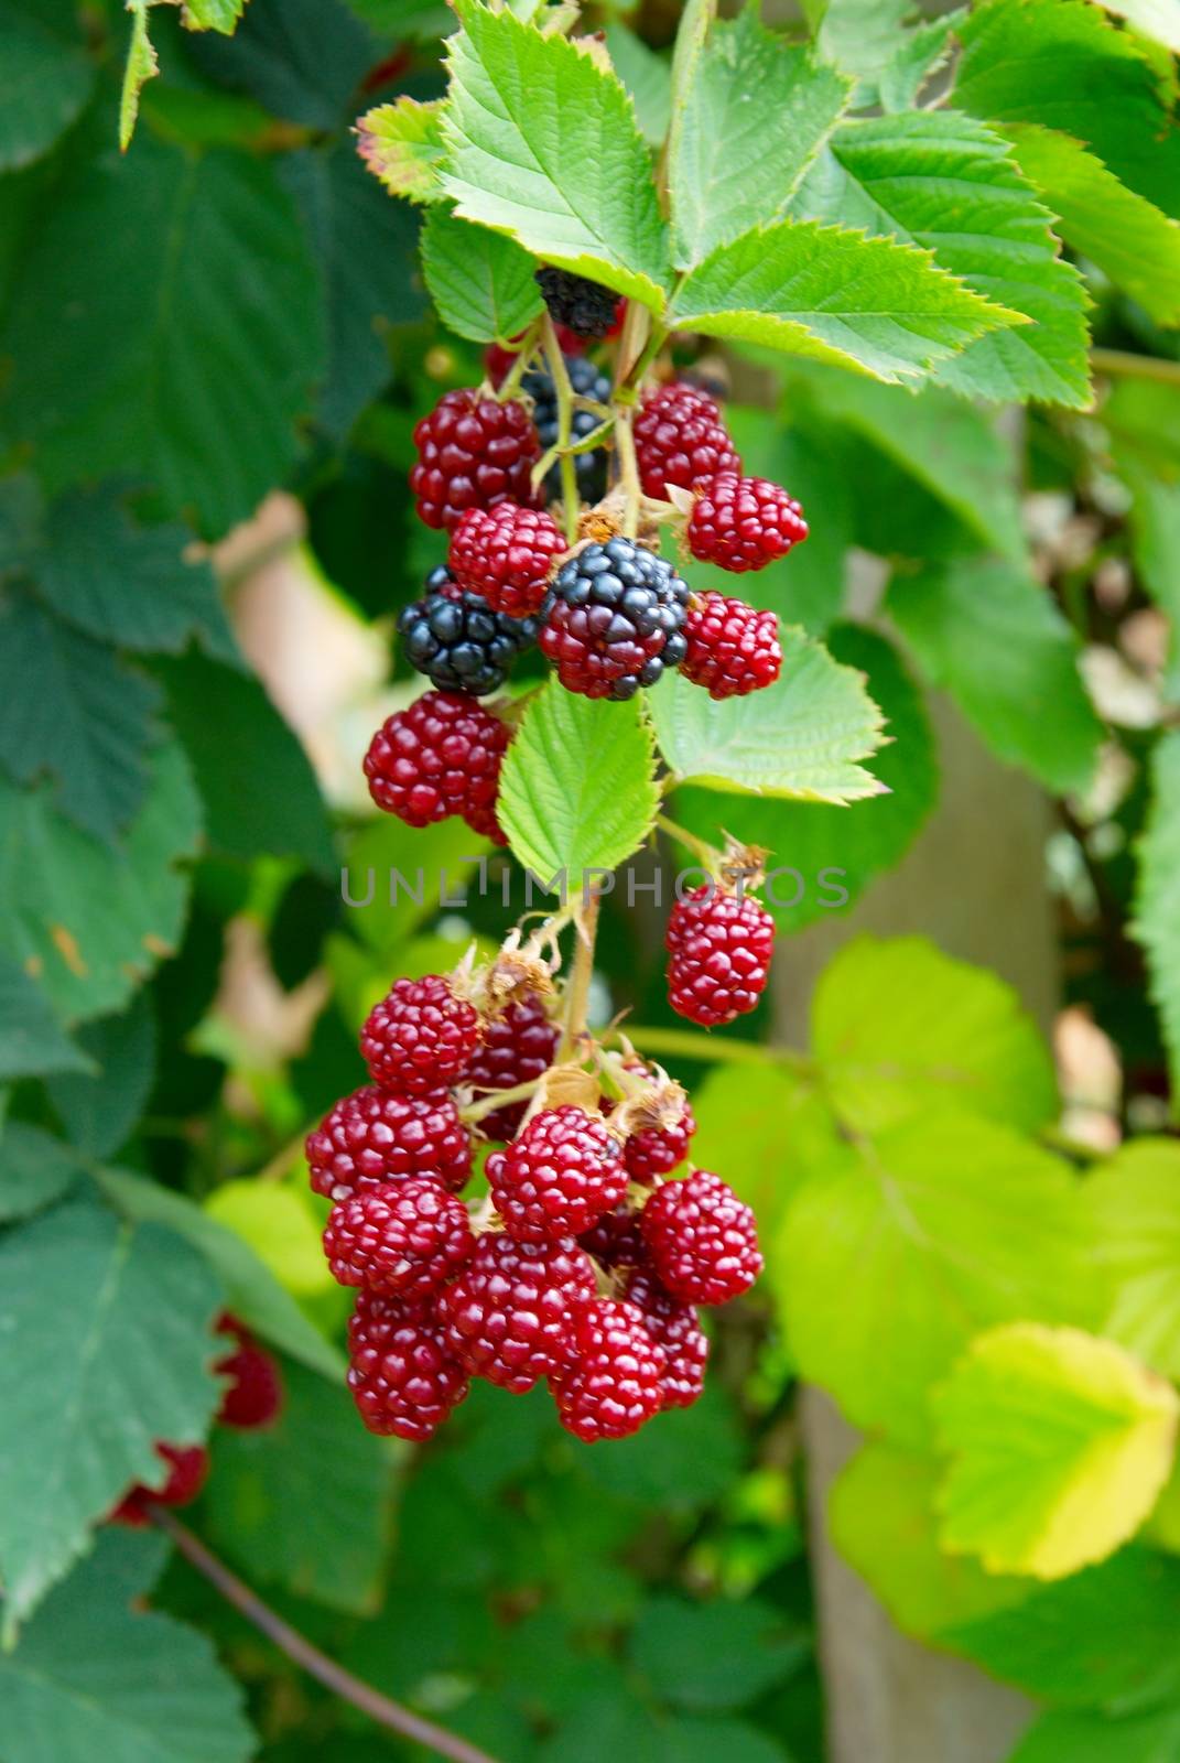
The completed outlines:
[[[369,1432],[422,1444],[467,1395],[425,1298],[358,1292],[347,1345],[347,1387]]]

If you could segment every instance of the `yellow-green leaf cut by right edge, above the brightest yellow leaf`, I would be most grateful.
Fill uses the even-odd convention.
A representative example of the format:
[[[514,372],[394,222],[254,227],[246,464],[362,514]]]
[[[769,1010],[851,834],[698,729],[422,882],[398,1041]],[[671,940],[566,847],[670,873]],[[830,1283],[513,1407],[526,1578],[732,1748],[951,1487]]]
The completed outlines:
[[[1087,1181],[1111,1271],[1102,1333],[1164,1377],[1180,1377],[1180,1144],[1136,1139]]]

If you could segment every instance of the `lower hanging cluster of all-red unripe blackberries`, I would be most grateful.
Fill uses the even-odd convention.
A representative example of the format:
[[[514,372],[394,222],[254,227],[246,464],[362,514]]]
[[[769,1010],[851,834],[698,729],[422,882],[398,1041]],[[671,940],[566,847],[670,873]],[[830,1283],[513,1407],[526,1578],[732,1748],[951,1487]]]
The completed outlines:
[[[473,1213],[460,1104],[536,1086],[559,1035],[536,991],[499,1010],[466,991],[443,975],[397,980],[362,1030],[372,1082],[307,1141],[312,1186],[333,1201],[325,1253],[356,1289],[353,1398],[370,1432],[425,1440],[473,1377],[515,1393],[547,1380],[568,1432],[621,1439],[700,1395],[697,1306],[758,1276],[753,1213],[707,1171],[665,1179],[691,1111],[633,1060],[623,1098],[598,1107],[476,1104],[503,1148]]]

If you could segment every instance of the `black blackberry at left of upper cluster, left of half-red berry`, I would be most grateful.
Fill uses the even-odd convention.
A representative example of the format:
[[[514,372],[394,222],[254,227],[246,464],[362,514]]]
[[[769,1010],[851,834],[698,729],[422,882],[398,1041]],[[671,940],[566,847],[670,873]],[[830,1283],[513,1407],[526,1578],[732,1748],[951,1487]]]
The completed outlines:
[[[536,619],[492,612],[478,594],[459,587],[446,564],[427,577],[427,592],[397,619],[406,659],[439,691],[487,698],[499,691],[522,649],[536,642]]]

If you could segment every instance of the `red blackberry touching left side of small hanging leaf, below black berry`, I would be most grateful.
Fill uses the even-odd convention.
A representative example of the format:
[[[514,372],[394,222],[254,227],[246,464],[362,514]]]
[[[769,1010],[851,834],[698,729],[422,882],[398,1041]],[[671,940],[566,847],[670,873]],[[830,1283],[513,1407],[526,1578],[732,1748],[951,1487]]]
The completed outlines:
[[[503,844],[496,795],[510,739],[508,725],[473,698],[423,691],[372,737],[365,755],[369,793],[407,827],[462,815],[474,832]]]

